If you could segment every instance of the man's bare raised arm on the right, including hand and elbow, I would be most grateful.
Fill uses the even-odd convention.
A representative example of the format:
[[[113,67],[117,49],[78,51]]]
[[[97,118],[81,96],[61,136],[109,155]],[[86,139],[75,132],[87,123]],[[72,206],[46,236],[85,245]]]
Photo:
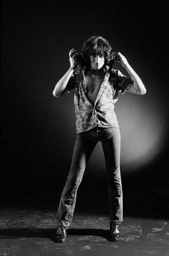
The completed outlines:
[[[118,59],[119,59],[119,62],[121,63],[121,65],[126,69],[128,74],[130,75],[131,79],[134,81],[134,83],[128,84],[126,91],[136,93],[139,95],[144,95],[146,93],[146,88],[145,88],[142,80],[137,75],[137,73],[129,65],[125,56],[123,56],[121,53],[118,53]]]

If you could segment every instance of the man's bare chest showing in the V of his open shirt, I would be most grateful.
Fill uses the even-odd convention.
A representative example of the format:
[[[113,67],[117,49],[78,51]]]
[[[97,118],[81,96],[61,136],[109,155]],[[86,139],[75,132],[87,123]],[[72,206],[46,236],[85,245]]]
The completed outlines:
[[[85,75],[87,95],[90,103],[95,105],[95,101],[100,90],[102,81],[104,80],[105,74],[101,73],[92,77],[91,75]]]

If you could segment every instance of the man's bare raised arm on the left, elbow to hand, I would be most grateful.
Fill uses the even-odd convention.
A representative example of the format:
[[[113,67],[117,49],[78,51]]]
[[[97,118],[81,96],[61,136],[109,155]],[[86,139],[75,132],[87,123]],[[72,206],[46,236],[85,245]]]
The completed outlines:
[[[73,76],[73,71],[77,67],[77,61],[74,59],[74,56],[77,54],[77,51],[74,49],[71,49],[69,52],[69,60],[70,60],[70,68],[69,70],[62,76],[62,78],[57,82],[57,84],[54,87],[53,95],[55,97],[62,96],[65,92],[69,90],[67,87],[68,81]]]

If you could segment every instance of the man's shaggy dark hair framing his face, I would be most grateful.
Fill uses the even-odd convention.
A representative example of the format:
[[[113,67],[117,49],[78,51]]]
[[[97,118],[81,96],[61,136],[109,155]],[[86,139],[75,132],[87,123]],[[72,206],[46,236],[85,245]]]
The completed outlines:
[[[92,36],[84,42],[79,56],[79,62],[82,66],[90,64],[90,55],[104,56],[105,65],[110,67],[112,67],[116,59],[116,53],[112,51],[108,40],[101,36]]]

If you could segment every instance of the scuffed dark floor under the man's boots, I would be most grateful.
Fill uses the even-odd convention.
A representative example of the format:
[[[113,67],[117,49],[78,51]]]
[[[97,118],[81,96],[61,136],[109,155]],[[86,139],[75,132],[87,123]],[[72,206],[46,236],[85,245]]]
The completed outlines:
[[[0,255],[169,255],[164,219],[125,217],[120,240],[110,242],[108,216],[76,212],[61,244],[55,243],[55,212],[3,209],[0,219]]]

